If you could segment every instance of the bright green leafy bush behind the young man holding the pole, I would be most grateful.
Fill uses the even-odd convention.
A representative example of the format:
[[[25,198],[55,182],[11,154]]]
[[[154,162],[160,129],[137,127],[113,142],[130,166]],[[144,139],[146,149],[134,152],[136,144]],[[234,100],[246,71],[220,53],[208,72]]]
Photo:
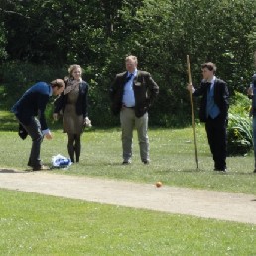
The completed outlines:
[[[253,147],[250,105],[248,97],[239,92],[231,100],[227,128],[228,155],[245,155]]]

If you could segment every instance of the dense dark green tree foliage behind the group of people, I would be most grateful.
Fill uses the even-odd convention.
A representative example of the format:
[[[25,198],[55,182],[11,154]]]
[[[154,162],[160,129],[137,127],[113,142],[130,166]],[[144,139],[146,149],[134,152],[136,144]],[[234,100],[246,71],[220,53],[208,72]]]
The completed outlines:
[[[186,55],[195,86],[200,64],[212,61],[231,95],[244,93],[254,71],[255,10],[254,0],[1,1],[0,107],[9,109],[35,81],[62,78],[80,64],[93,124],[116,125],[108,90],[134,54],[160,86],[150,124],[184,127],[191,123]]]

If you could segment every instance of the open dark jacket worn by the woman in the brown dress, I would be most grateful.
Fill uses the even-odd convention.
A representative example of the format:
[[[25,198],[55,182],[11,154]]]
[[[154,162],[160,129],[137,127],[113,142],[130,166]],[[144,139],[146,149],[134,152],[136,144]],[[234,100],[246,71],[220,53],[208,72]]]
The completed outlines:
[[[79,95],[75,104],[75,111],[77,115],[83,115],[83,118],[88,116],[88,87],[89,85],[82,81],[79,84]],[[54,103],[54,113],[59,113],[61,110],[64,113],[65,106],[67,104],[68,94],[62,93]]]

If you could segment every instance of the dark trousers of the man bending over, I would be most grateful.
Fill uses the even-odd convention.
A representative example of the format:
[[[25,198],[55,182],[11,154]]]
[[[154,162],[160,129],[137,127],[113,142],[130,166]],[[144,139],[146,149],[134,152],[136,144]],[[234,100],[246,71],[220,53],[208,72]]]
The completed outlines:
[[[24,124],[22,125],[32,139],[32,147],[31,147],[30,157],[28,161],[28,166],[37,168],[42,165],[41,159],[40,159],[40,148],[44,138],[41,131],[40,122],[37,118],[32,117],[29,125],[24,125]]]

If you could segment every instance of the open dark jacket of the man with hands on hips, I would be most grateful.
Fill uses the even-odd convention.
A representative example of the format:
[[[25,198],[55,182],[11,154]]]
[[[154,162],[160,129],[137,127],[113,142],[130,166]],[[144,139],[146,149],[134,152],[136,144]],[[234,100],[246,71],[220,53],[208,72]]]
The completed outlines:
[[[114,115],[120,113],[123,105],[122,99],[127,74],[127,72],[117,74],[110,88],[111,110]],[[138,70],[133,80],[133,90],[135,97],[135,115],[136,117],[141,117],[148,111],[157,97],[159,87],[152,79],[150,73]]]

